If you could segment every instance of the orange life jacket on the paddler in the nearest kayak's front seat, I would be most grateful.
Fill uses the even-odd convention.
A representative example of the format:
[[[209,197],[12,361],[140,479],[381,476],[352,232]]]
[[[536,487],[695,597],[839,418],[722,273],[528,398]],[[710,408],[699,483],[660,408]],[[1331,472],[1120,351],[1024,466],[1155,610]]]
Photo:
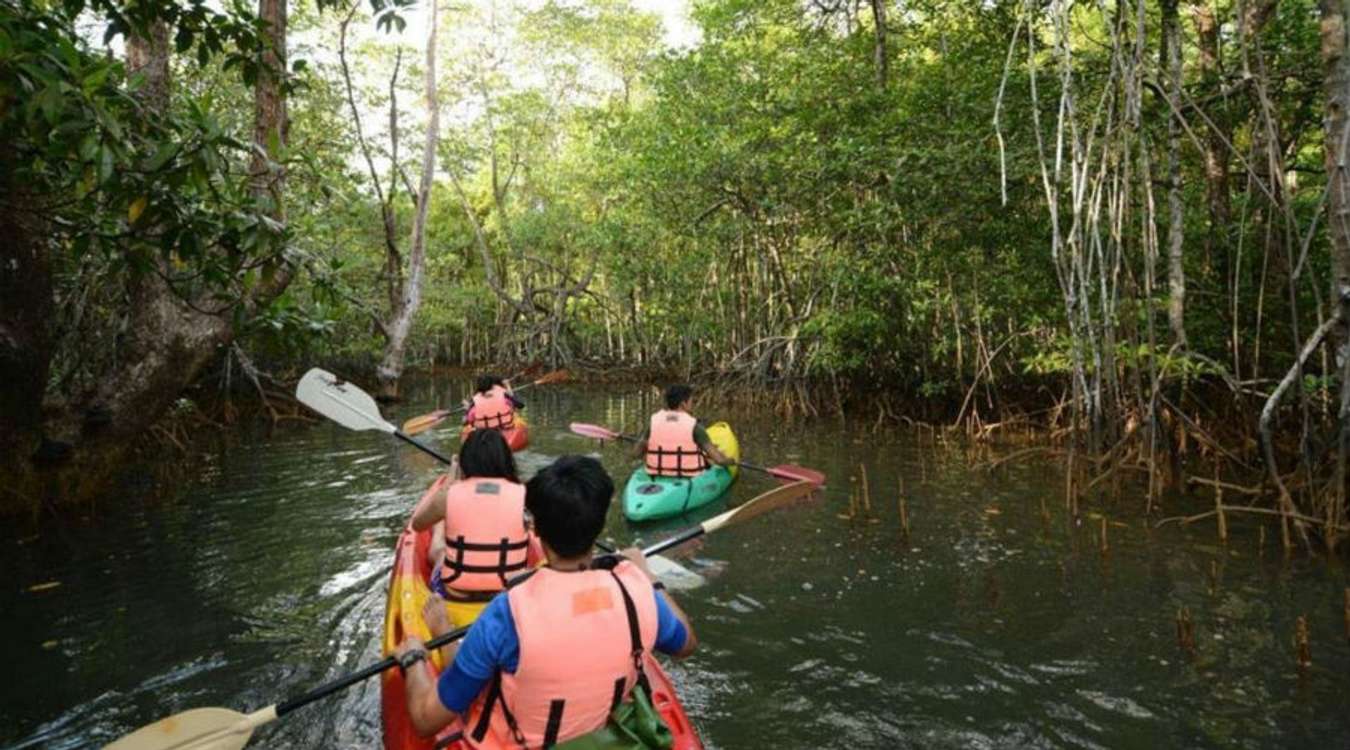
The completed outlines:
[[[528,564],[525,487],[505,479],[460,479],[446,490],[446,557],[440,583],[497,592]]]

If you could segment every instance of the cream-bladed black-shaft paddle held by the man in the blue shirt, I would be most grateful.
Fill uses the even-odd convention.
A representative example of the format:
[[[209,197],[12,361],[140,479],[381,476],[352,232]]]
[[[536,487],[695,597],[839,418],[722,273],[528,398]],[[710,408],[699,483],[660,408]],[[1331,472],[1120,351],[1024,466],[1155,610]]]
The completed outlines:
[[[645,557],[666,552],[672,546],[679,546],[703,534],[711,534],[718,529],[742,523],[765,513],[792,504],[815,491],[810,482],[798,482],[776,487],[737,506],[721,515],[675,534],[668,540],[659,541],[643,550]],[[526,573],[528,575],[528,573]],[[446,643],[451,643],[464,637],[468,627],[458,627],[432,638],[427,642],[427,650],[433,652]],[[323,700],[339,691],[350,688],[356,683],[374,677],[386,669],[392,669],[398,661],[389,656],[375,664],[358,669],[346,677],[339,677],[323,684],[298,697],[285,703],[275,703],[252,714],[240,714],[228,708],[192,708],[159,719],[153,724],[124,735],[122,739],[105,746],[104,750],[240,750],[248,745],[252,732],[292,711],[309,705],[316,700]]]

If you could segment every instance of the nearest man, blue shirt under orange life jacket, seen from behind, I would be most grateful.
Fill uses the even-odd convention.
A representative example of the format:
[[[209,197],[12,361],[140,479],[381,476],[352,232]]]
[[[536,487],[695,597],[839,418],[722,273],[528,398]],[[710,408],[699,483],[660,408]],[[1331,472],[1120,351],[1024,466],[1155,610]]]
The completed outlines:
[[[599,461],[585,456],[563,456],[529,480],[525,504],[548,564],[487,604],[439,677],[412,668],[427,654],[417,638],[396,650],[418,734],[463,718],[474,747],[548,747],[605,726],[636,684],[634,646],[694,652],[688,618],[640,550],[591,557],[613,494]]]

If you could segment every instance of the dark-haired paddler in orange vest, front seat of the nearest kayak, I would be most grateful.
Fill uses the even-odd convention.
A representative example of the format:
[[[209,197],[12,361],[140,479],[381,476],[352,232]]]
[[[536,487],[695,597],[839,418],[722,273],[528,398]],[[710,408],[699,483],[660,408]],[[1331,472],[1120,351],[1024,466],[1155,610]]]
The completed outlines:
[[[531,534],[525,487],[498,430],[470,433],[429,492],[436,496],[418,503],[412,519],[417,531],[441,526],[428,549],[433,596],[424,615],[448,616],[448,630],[471,623],[510,577],[543,558],[543,548]]]

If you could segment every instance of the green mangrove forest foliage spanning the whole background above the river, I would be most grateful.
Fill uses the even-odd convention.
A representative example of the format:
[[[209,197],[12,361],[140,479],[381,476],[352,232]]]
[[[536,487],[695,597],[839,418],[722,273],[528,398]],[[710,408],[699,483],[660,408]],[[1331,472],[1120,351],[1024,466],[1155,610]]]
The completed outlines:
[[[381,171],[414,171],[423,135],[416,35],[390,34],[404,28],[405,1],[375,0],[354,16],[356,100]],[[65,11],[24,5],[23,23],[0,27],[3,127],[26,148],[16,161],[30,170],[23,179],[69,196],[61,235],[70,267],[99,258],[135,271],[170,258],[180,285],[228,304],[265,278],[285,240],[286,258],[308,272],[258,320],[254,343],[275,359],[373,359],[390,268],[381,206],[331,57],[293,66],[286,200],[304,209],[290,212],[282,233],[252,205],[244,179],[250,111],[242,103],[258,57],[247,12],[198,0],[161,11],[90,5],[111,19],[111,34],[166,18],[180,59],[205,54],[211,62],[182,66],[171,113],[144,119],[135,77],[72,34],[69,12],[80,0],[70,3]],[[331,49],[340,19],[324,7],[297,8],[293,23],[315,47]],[[440,174],[456,177],[471,217],[441,177],[410,362],[541,356],[524,344],[533,337],[567,356],[836,378],[934,399],[960,398],[976,378],[1062,378],[1073,349],[1050,258],[1025,32],[1006,67],[1011,31],[1029,7],[915,0],[903,13],[895,8],[884,84],[867,4],[698,0],[691,18],[701,42],[674,51],[660,50],[657,16],[630,0],[500,0],[493,12],[486,3],[448,11]],[[1231,20],[1228,4],[1218,9]],[[1315,16],[1312,0],[1281,3],[1261,38],[1265,65],[1291,71],[1274,76],[1270,92],[1291,155],[1288,216],[1272,219],[1261,193],[1234,178],[1233,225],[1211,227],[1203,154],[1185,142],[1192,352],[1172,349],[1165,263],[1150,299],[1139,228],[1129,227],[1104,239],[1123,247],[1112,277],[1115,340],[1103,341],[1110,367],[1188,382],[1224,375],[1211,362],[1243,372],[1288,366],[1289,347],[1247,340],[1305,332],[1319,304],[1311,282],[1284,291],[1301,248],[1282,258],[1289,251],[1277,227],[1305,225],[1320,206]],[[1157,20],[1149,7],[1148,46],[1158,43]],[[1073,9],[1081,107],[1110,101],[1099,97],[1116,65],[1102,43],[1111,23],[1095,5]],[[1041,22],[1029,28],[1046,128],[1060,85],[1048,73],[1053,34]],[[1238,59],[1238,42],[1222,38],[1220,57]],[[39,59],[39,49],[53,54]],[[1187,96],[1250,151],[1256,103],[1199,74],[1193,38],[1184,50]],[[1000,89],[1002,151],[992,125]],[[385,132],[390,96],[404,134],[397,158]],[[1146,88],[1141,108],[1138,138],[1161,169],[1166,103]],[[412,200],[397,182],[392,205],[402,235]],[[1142,210],[1145,196],[1123,198]],[[516,302],[489,287],[475,224],[502,294]],[[1304,279],[1324,277],[1322,235],[1303,263]],[[563,293],[574,286],[585,289]],[[1246,363],[1253,349],[1260,362]]]

